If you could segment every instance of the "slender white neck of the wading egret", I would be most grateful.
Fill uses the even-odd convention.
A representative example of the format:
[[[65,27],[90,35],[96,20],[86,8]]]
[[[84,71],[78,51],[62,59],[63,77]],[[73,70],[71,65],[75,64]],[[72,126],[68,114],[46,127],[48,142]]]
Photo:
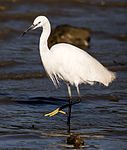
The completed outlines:
[[[40,51],[48,51],[48,38],[49,35],[51,33],[51,26],[50,23],[47,19],[47,21],[45,22],[45,24],[42,26],[43,28],[43,32],[41,33],[41,37],[40,37],[40,44],[39,44],[39,48]]]

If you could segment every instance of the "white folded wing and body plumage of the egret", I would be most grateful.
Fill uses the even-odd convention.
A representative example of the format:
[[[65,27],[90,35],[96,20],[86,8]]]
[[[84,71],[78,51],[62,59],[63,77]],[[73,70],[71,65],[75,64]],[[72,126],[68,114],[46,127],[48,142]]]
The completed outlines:
[[[108,86],[115,78],[114,73],[99,61],[73,45],[56,44],[51,51],[56,76],[71,84],[93,84],[96,81]]]

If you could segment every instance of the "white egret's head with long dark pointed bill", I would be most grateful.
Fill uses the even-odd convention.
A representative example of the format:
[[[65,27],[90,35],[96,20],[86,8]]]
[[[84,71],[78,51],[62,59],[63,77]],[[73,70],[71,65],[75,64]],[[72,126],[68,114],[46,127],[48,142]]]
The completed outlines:
[[[47,21],[48,21],[48,19],[45,16],[36,17],[33,24],[27,30],[25,30],[23,32],[22,36],[30,30],[35,30],[37,28],[44,27],[44,25]]]

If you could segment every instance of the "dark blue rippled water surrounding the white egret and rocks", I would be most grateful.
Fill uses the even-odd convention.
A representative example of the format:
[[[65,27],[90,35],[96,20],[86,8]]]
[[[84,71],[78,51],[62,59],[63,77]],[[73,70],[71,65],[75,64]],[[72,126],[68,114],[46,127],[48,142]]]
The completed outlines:
[[[72,132],[85,139],[86,150],[126,150],[126,0],[0,0],[0,149],[70,149],[64,145],[66,116],[44,117],[67,102],[66,87],[55,89],[45,75],[38,51],[40,31],[19,38],[40,14],[48,16],[53,27],[90,28],[89,53],[117,72],[108,88],[80,87],[82,103],[73,107]],[[73,95],[76,99],[75,89]]]

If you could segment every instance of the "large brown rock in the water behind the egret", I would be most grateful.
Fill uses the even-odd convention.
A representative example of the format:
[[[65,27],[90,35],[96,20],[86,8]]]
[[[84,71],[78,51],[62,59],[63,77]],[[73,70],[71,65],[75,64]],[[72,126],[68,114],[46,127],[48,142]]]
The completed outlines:
[[[49,47],[57,43],[69,43],[86,49],[89,47],[90,30],[71,25],[59,25],[53,29],[48,42]]]

